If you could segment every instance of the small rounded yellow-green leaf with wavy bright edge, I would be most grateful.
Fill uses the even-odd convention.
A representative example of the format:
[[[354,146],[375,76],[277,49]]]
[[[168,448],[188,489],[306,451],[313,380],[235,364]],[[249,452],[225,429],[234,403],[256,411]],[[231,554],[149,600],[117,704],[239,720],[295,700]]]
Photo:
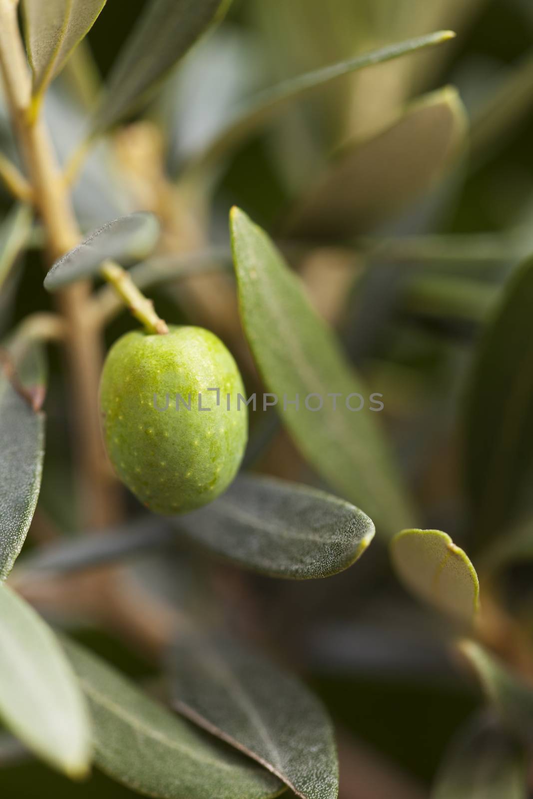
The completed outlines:
[[[392,539],[396,574],[417,597],[471,622],[479,609],[479,582],[467,555],[439,530],[403,530]]]

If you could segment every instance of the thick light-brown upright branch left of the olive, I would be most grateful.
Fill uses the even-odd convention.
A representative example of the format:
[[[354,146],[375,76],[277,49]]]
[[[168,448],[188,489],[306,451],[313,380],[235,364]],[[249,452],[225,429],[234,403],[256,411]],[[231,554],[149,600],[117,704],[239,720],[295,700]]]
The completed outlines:
[[[48,260],[53,262],[78,244],[80,231],[70,195],[42,118],[32,119],[31,81],[18,27],[17,4],[0,0],[0,71],[22,160],[42,219]],[[82,503],[87,524],[99,527],[114,518],[113,484],[102,469],[104,453],[97,411],[102,350],[98,331],[86,314],[89,285],[78,283],[58,294],[68,326],[66,352],[76,408],[76,439]]]

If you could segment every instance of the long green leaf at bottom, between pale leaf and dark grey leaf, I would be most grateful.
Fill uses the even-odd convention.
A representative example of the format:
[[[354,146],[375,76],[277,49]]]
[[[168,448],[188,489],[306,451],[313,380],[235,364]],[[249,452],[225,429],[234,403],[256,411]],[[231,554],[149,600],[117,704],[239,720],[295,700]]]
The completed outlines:
[[[109,777],[159,799],[262,799],[279,781],[204,737],[121,674],[65,642],[93,716],[95,761]]]

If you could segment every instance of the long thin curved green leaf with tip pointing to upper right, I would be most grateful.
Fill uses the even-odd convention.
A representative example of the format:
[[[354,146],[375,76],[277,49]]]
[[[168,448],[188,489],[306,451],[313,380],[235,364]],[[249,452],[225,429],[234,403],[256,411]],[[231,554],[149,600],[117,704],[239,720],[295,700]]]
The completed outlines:
[[[297,100],[305,93],[327,85],[336,78],[342,78],[356,70],[391,61],[393,58],[424,50],[426,47],[439,45],[454,38],[451,30],[438,30],[436,33],[408,39],[379,50],[372,50],[348,61],[338,62],[320,70],[290,78],[279,85],[266,89],[256,95],[244,106],[237,109],[233,121],[222,130],[197,156],[193,157],[192,167],[213,164],[219,158],[229,154],[241,141],[245,140],[257,129],[265,125],[289,103]],[[191,167],[189,167],[191,168]]]

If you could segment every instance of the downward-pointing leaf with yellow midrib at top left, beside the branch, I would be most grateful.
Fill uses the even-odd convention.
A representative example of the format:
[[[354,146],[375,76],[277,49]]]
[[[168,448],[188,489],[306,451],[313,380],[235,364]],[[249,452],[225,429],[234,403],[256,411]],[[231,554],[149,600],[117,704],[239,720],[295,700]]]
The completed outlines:
[[[104,6],[105,0],[23,0],[34,97],[46,91]]]

